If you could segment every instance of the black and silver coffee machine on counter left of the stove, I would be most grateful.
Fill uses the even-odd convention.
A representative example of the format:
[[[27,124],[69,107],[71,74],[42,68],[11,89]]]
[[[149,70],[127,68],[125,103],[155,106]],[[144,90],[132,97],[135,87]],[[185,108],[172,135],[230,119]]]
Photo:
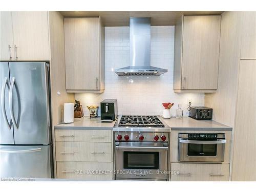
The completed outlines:
[[[100,102],[101,121],[112,122],[117,116],[117,99],[105,99]]]

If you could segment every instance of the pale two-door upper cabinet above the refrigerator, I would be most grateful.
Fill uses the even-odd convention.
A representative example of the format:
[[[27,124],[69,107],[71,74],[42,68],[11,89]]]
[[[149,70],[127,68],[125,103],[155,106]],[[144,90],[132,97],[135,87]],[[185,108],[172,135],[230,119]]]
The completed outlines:
[[[47,11],[1,12],[1,60],[50,60]]]

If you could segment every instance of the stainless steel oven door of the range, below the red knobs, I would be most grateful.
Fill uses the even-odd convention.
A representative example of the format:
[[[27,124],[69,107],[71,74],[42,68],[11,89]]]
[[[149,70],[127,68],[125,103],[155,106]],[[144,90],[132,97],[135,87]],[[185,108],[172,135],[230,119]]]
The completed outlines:
[[[167,180],[168,144],[116,142],[115,178]]]

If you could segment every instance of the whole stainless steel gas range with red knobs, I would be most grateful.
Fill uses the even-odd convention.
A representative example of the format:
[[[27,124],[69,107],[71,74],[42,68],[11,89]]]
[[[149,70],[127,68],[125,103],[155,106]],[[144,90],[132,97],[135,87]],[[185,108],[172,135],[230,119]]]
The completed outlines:
[[[161,117],[122,115],[113,131],[116,180],[168,180],[167,172],[158,174],[169,164],[170,127]]]

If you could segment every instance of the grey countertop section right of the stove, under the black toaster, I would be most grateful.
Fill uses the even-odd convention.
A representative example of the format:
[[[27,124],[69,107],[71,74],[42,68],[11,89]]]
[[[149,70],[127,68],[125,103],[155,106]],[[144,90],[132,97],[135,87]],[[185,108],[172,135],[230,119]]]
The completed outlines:
[[[196,120],[190,117],[183,117],[182,119],[172,117],[170,119],[161,118],[171,130],[183,131],[232,131],[232,127],[218,123],[213,120]]]

